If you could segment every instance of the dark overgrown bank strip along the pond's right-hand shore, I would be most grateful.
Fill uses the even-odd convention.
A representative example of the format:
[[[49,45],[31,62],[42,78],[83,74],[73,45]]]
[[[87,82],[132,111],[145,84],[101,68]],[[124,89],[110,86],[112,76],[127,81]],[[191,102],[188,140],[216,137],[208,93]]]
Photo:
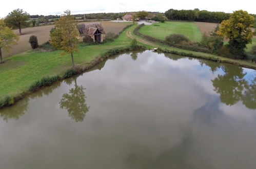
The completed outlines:
[[[186,53],[186,52],[178,52],[178,51],[175,51],[175,50],[168,50],[168,49],[162,49],[162,48],[157,48],[156,52],[171,53],[171,54],[176,54],[176,55],[181,55],[181,56],[190,56],[190,57],[206,59],[206,60],[211,60],[211,61],[216,61],[216,62],[222,62],[222,63],[226,63],[226,64],[232,64],[232,65],[240,66],[240,67],[243,67],[243,68],[256,70],[256,65],[255,66],[249,66],[249,65],[245,65],[243,63],[237,62],[237,61],[232,61],[230,59],[225,59],[225,58],[216,58],[214,56],[209,57],[209,56],[196,55],[196,54],[193,54],[193,53]]]

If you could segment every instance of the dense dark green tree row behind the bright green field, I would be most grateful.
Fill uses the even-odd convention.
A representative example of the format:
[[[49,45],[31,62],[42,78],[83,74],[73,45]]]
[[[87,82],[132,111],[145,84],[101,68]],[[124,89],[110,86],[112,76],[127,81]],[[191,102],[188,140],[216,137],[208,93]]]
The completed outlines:
[[[189,20],[198,22],[221,23],[230,17],[225,12],[210,12],[206,10],[175,10],[169,9],[165,12],[165,16],[170,20]]]

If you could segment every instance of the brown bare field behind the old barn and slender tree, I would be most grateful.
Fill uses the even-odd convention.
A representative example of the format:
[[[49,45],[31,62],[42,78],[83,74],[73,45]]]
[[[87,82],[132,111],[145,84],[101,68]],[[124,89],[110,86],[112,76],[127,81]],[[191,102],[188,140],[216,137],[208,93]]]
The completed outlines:
[[[108,21],[99,21],[102,23],[106,33],[113,32],[119,33],[123,28],[131,23],[113,23]],[[88,22],[87,22],[88,23]],[[79,23],[82,24],[82,23]],[[22,35],[19,35],[18,44],[12,46],[9,52],[3,50],[3,56],[8,57],[14,54],[22,53],[31,49],[30,44],[28,43],[29,37],[31,35],[37,36],[38,44],[46,43],[50,38],[50,30],[54,27],[54,25],[40,26],[40,27],[32,27],[32,28],[24,28],[22,29]],[[14,30],[16,34],[18,34],[18,30]]]

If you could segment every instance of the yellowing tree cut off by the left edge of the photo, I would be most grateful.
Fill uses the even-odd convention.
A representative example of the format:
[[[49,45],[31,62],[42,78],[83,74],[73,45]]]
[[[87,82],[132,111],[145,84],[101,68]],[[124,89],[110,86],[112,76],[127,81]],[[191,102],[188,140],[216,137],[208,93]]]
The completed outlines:
[[[2,57],[2,48],[5,48],[7,51],[10,48],[10,45],[16,45],[18,36],[5,25],[3,19],[0,19],[0,63],[3,62]]]

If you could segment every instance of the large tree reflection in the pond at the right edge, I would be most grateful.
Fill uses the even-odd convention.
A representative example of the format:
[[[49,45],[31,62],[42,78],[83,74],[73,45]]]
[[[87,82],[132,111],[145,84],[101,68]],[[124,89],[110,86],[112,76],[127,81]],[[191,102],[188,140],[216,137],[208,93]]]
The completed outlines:
[[[221,102],[234,105],[238,101],[249,109],[256,109],[256,78],[245,79],[246,73],[241,67],[223,66],[224,75],[214,78],[212,85],[214,91],[220,94]]]

